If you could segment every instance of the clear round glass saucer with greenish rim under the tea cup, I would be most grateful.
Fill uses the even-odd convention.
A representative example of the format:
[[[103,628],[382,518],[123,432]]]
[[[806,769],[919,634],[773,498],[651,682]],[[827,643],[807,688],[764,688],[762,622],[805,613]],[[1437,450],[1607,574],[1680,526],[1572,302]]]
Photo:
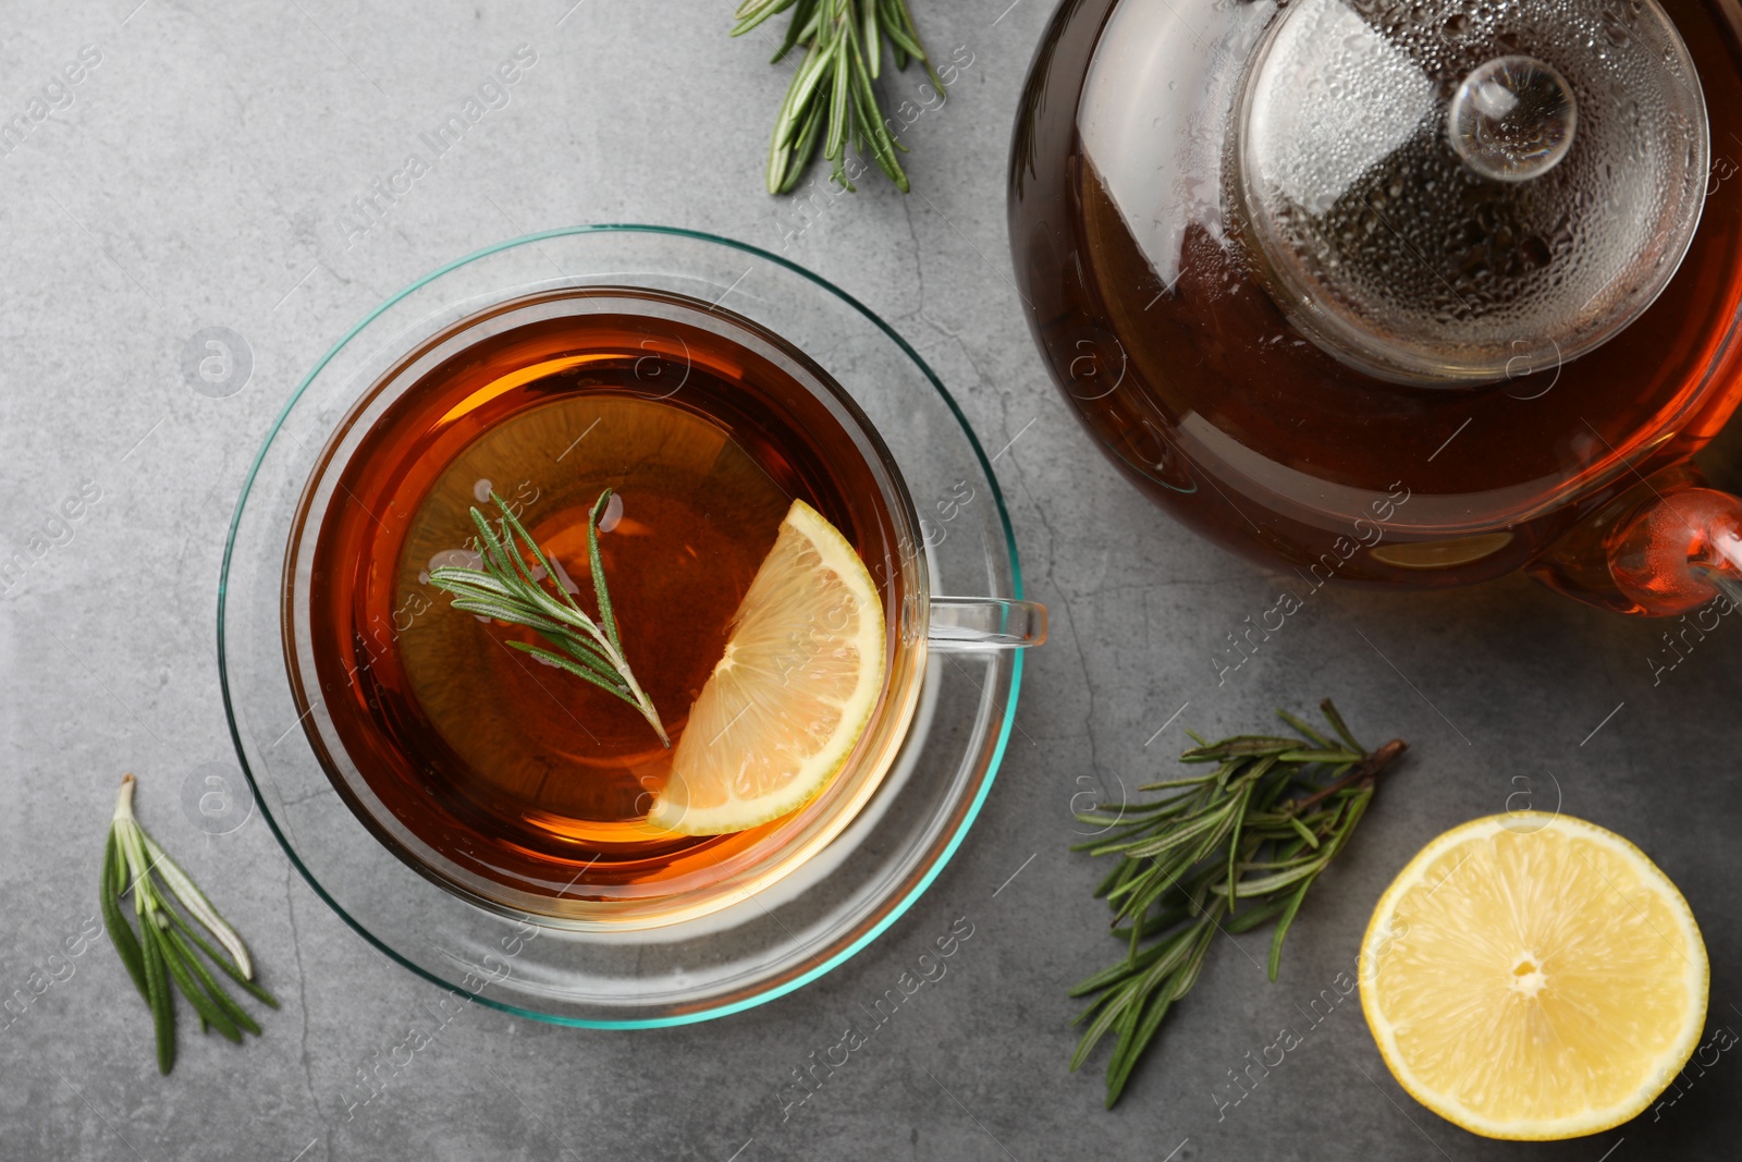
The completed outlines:
[[[784,880],[707,916],[599,930],[467,899],[395,855],[334,791],[284,662],[284,561],[327,437],[406,352],[455,319],[559,287],[688,294],[808,354],[866,411],[922,516],[932,592],[1021,598],[1003,498],[925,361],[840,287],[784,258],[643,225],[550,230],[453,261],[387,300],[308,373],[242,486],[218,587],[218,667],[242,770],[310,887],[425,979],[587,1028],[686,1024],[814,981],[925,892],[979,814],[1016,713],[1019,650],[934,653],[894,768],[854,821]]]

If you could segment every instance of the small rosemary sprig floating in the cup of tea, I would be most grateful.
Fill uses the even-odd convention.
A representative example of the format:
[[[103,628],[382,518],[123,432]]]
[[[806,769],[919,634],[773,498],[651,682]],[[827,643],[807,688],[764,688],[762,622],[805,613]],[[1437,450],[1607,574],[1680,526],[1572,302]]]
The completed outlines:
[[[624,657],[624,639],[611,611],[611,591],[604,584],[604,563],[599,559],[599,517],[611,502],[606,488],[587,514],[587,566],[592,573],[592,596],[599,605],[599,620],[587,617],[580,603],[561,584],[561,575],[550,568],[544,549],[533,540],[507,502],[496,493],[490,498],[502,512],[502,533],[491,528],[483,512],[472,509],[477,526],[479,568],[439,568],[430,573],[430,584],[453,594],[453,608],[493,617],[498,622],[526,625],[563,653],[552,653],[526,641],[505,643],[510,650],[524,650],[542,662],[591,681],[599,690],[617,695],[641,711],[648,725],[658,732],[667,747],[671,739],[653,709],[653,699],[636,681]],[[531,556],[533,564],[526,557]],[[550,584],[550,589],[544,585]],[[552,596],[552,591],[556,596]],[[566,655],[566,657],[564,657]]]

